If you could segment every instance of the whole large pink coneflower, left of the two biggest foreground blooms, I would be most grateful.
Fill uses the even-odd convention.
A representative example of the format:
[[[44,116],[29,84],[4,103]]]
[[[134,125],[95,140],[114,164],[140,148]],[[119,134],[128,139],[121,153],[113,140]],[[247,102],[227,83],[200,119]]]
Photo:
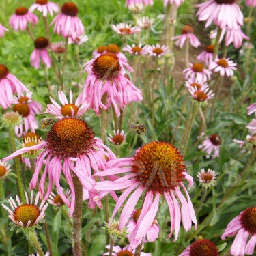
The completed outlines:
[[[100,169],[103,170],[106,168],[105,157],[108,160],[115,159],[113,152],[100,139],[94,137],[94,132],[89,128],[87,123],[76,118],[65,118],[55,122],[48,132],[46,141],[42,141],[39,145],[17,150],[7,158],[4,158],[3,161],[24,154],[29,150],[42,150],[38,156],[35,173],[30,182],[30,190],[36,186],[40,169],[46,158],[44,173],[39,184],[40,195],[44,195],[44,183],[48,173],[49,184],[46,195],[44,195],[44,200],[48,199],[51,195],[53,183],[55,183],[61,199],[70,208],[70,217],[74,212],[75,201],[74,184],[70,170],[79,178],[83,187],[89,191],[91,202],[97,193],[94,189],[95,181],[91,177],[91,169],[94,170],[94,173],[97,173]],[[71,202],[68,201],[59,184],[62,171],[71,189]],[[102,207],[100,202],[98,202],[98,205]],[[95,203],[91,203],[91,207],[95,207]]]

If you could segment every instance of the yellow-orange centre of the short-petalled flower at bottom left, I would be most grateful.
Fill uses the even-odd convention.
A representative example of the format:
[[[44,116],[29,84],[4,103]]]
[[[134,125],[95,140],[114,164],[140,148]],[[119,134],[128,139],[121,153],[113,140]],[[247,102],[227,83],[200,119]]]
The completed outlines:
[[[40,215],[40,210],[35,205],[25,204],[20,205],[14,211],[14,220],[21,221],[24,227],[27,226],[27,223],[31,220],[29,227],[33,226],[36,219]]]

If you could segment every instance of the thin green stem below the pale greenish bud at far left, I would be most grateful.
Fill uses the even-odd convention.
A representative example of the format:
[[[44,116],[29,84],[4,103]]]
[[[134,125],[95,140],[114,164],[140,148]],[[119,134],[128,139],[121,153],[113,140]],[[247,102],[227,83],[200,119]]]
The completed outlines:
[[[12,153],[16,151],[16,145],[15,145],[15,133],[14,133],[14,128],[9,127],[9,137],[10,137],[10,143],[11,143],[11,148],[12,148]],[[17,175],[17,184],[18,184],[18,193],[20,196],[20,199],[23,204],[26,203],[24,193],[23,193],[23,184],[21,182],[21,177],[20,177],[20,165],[18,162],[18,157],[14,158],[14,163],[15,163],[15,169],[16,169],[16,175]]]

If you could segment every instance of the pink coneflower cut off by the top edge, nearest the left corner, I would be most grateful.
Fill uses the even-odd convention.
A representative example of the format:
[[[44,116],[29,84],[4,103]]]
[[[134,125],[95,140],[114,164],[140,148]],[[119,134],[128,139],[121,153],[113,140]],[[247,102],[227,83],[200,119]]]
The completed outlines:
[[[46,17],[48,13],[53,16],[53,12],[55,12],[55,14],[59,12],[59,5],[49,2],[48,0],[36,0],[29,8],[29,12],[33,12],[34,10],[42,12],[42,16],[44,17]]]

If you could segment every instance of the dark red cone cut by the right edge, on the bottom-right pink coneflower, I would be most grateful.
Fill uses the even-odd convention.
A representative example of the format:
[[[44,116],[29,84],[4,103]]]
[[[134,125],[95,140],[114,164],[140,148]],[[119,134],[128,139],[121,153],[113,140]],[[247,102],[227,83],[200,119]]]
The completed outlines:
[[[242,227],[251,235],[256,234],[256,207],[247,208],[240,218]]]

